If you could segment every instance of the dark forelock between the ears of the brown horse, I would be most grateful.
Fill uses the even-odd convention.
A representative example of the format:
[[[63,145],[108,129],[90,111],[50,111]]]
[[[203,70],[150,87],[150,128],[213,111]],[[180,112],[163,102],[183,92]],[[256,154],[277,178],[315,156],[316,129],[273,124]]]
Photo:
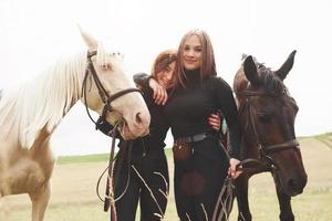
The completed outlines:
[[[267,94],[278,96],[281,95],[284,91],[284,85],[280,77],[274,74],[269,67],[259,66],[258,67],[260,83],[264,88]]]

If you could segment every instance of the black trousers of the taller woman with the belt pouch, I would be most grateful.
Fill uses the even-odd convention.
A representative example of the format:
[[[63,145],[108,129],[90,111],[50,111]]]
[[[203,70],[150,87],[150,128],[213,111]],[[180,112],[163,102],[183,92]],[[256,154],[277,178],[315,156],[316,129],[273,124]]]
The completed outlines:
[[[217,138],[190,143],[187,159],[175,159],[174,188],[181,221],[211,220],[229,162]]]

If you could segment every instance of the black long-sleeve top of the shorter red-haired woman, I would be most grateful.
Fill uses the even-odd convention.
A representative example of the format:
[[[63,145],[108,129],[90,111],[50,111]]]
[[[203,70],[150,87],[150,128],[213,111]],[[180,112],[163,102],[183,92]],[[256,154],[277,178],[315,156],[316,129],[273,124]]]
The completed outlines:
[[[138,73],[133,77],[134,82],[139,85],[143,92],[143,98],[151,114],[149,134],[133,140],[133,152],[160,150],[166,146],[164,140],[169,128],[164,116],[163,106],[155,104],[153,99],[153,91],[148,86],[149,75]],[[106,122],[103,122],[98,127],[98,129],[106,135],[108,135],[108,131],[112,128],[112,125]],[[124,140],[121,138],[121,143]]]

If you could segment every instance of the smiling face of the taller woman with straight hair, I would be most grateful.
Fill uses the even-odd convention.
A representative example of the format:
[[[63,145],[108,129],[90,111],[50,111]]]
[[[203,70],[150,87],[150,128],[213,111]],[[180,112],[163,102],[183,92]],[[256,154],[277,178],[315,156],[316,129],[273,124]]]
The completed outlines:
[[[186,70],[197,70],[201,65],[201,44],[196,34],[188,36],[183,51],[183,63]]]

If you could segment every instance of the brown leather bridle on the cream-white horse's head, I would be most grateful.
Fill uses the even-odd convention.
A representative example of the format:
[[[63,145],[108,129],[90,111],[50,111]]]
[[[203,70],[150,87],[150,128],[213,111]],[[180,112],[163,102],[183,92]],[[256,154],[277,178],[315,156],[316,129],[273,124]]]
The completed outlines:
[[[82,85],[82,94],[84,96],[84,103],[85,103],[85,108],[86,108],[87,116],[95,124],[95,127],[97,129],[100,127],[101,122],[106,119],[107,112],[114,112],[115,110],[111,106],[111,103],[114,99],[116,99],[116,98],[118,98],[118,97],[121,97],[121,96],[123,96],[125,94],[132,93],[132,92],[139,92],[139,93],[142,93],[142,92],[138,88],[126,88],[126,90],[123,90],[123,91],[120,91],[120,92],[116,92],[116,93],[110,95],[106,92],[105,87],[103,86],[100,77],[97,76],[97,74],[95,72],[95,69],[93,66],[92,60],[91,60],[91,57],[94,56],[94,55],[96,55],[96,53],[97,53],[96,51],[87,52],[87,56],[86,56],[86,59],[87,59],[87,65],[86,65],[85,75],[84,75],[83,85]],[[95,83],[95,85],[96,85],[96,87],[98,90],[100,97],[101,97],[101,99],[102,99],[102,102],[104,104],[102,116],[97,120],[94,120],[92,118],[92,116],[91,116],[91,114],[89,112],[89,108],[87,108],[87,101],[86,101],[86,87],[87,87],[87,85],[86,85],[86,82],[87,82],[89,74],[92,75],[93,81],[94,81],[94,83]]]

